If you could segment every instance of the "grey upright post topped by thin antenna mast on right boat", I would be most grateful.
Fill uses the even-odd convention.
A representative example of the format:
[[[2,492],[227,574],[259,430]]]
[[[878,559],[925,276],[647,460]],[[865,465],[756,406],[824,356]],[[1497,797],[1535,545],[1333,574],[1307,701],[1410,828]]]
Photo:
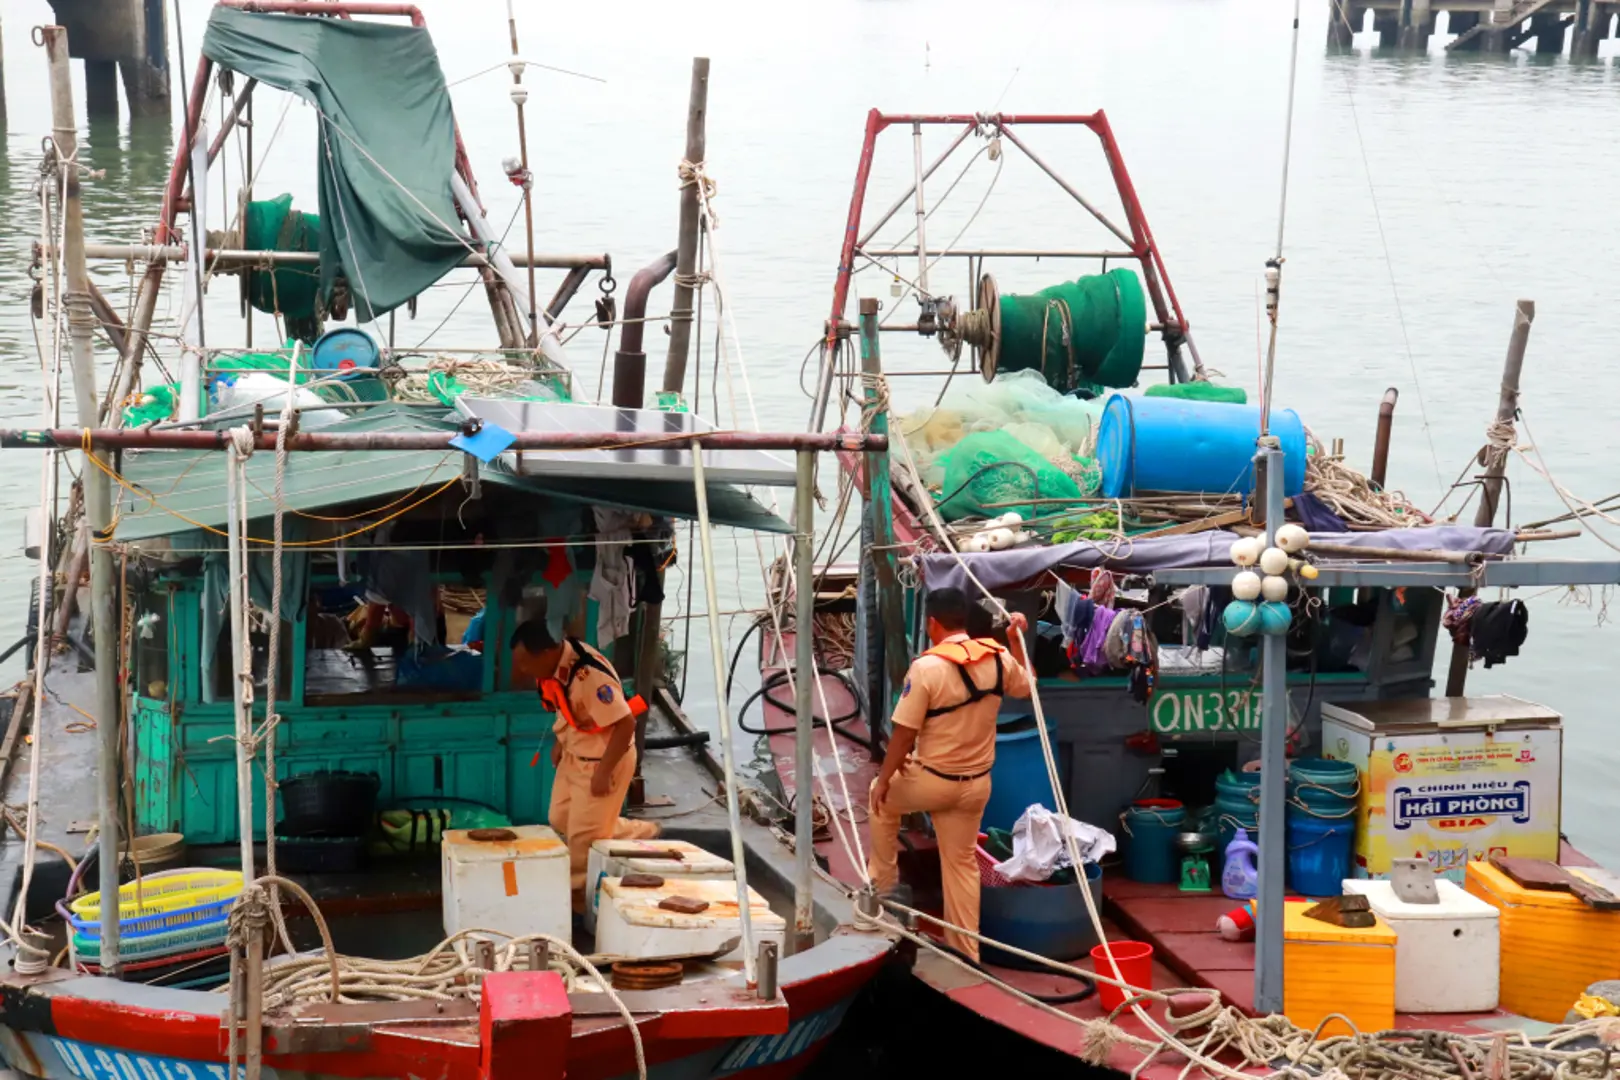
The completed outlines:
[[[1277,542],[1283,525],[1283,450],[1270,434],[1272,384],[1277,368],[1277,298],[1283,269],[1283,220],[1288,210],[1288,154],[1294,130],[1294,73],[1299,66],[1299,0],[1294,0],[1293,50],[1288,57],[1288,118],[1283,126],[1283,183],[1277,206],[1277,254],[1265,261],[1265,308],[1272,340],[1265,350],[1260,387],[1260,439],[1256,476],[1264,479],[1265,542]],[[1264,466],[1264,471],[1260,471]],[[1288,858],[1283,814],[1288,771],[1288,641],[1268,633],[1260,644],[1260,891],[1259,926],[1254,936],[1254,1007],[1260,1014],[1283,1010],[1283,870]]]

